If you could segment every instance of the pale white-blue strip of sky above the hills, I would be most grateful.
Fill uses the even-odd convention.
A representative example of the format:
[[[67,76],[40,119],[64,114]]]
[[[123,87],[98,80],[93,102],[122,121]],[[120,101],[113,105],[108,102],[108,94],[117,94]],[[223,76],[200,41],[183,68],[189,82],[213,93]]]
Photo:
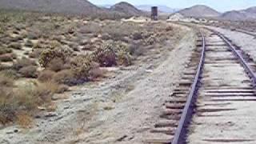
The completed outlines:
[[[203,4],[213,7],[218,11],[241,10],[250,6],[256,6],[256,0],[89,0],[96,5],[114,4],[117,2],[130,2],[133,5],[166,5],[171,8],[184,8]]]

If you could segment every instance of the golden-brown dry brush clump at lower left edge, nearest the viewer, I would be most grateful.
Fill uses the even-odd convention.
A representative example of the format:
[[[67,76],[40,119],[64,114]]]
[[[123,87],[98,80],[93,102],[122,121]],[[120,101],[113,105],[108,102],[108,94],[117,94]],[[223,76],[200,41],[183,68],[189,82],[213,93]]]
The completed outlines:
[[[0,73],[0,123],[17,122],[27,127],[38,106],[50,105],[55,93],[66,90],[54,82],[37,83],[33,86],[14,86],[14,78]]]

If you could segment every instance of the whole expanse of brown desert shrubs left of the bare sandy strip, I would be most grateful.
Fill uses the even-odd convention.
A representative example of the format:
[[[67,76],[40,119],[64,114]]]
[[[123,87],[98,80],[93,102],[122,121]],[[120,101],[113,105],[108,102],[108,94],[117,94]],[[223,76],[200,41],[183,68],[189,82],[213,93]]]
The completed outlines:
[[[54,94],[104,78],[106,67],[134,65],[159,43],[164,45],[173,30],[161,22],[9,11],[0,15],[2,125],[29,126],[35,113],[53,110]]]

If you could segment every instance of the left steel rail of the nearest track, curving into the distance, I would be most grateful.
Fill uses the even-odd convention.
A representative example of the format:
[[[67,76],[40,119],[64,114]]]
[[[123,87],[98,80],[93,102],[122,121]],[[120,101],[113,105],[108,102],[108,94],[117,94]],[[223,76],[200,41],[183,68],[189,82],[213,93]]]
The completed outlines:
[[[182,112],[182,117],[178,122],[178,128],[175,131],[174,134],[174,138],[173,141],[171,142],[171,144],[182,144],[183,141],[185,140],[186,137],[186,124],[190,121],[191,117],[192,117],[192,113],[193,113],[193,109],[192,109],[192,104],[194,103],[194,100],[196,99],[196,93],[197,93],[197,86],[198,86],[198,82],[200,79],[200,75],[202,73],[202,68],[203,68],[203,64],[205,61],[205,57],[206,57],[206,42],[205,42],[205,37],[202,34],[202,53],[201,53],[201,58],[200,58],[200,62],[198,65],[198,70],[197,73],[194,77],[194,81],[193,84],[191,86],[191,90],[190,90],[190,94],[186,100],[186,105],[183,109]]]

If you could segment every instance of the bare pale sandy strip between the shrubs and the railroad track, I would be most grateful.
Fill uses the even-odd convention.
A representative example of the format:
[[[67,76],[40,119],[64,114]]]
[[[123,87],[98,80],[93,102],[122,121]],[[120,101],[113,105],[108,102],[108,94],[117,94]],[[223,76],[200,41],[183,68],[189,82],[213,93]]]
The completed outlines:
[[[161,53],[74,88],[30,130],[0,130],[0,143],[142,143],[194,49],[194,30],[181,28],[181,40],[171,39]]]

